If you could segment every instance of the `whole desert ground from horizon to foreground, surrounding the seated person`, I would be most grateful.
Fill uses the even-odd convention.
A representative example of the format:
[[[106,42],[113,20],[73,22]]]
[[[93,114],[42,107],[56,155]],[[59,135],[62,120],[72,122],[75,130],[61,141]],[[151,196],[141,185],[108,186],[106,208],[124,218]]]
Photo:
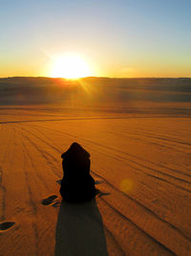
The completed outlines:
[[[190,79],[0,80],[0,255],[191,255]],[[99,194],[59,195],[61,153]]]

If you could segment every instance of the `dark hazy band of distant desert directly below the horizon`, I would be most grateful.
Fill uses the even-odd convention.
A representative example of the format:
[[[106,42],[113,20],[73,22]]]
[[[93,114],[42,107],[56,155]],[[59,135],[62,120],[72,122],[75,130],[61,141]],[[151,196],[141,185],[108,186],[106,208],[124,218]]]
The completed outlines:
[[[191,102],[191,79],[65,80],[15,77],[0,79],[0,105],[105,102]]]

